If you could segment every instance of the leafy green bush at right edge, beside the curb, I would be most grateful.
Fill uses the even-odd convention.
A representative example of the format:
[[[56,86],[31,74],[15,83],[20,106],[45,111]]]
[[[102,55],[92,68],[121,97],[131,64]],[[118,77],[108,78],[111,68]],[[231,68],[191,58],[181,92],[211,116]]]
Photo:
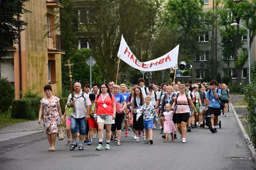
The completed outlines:
[[[256,149],[256,81],[253,81],[250,85],[244,87],[245,100],[248,102],[248,122],[251,126],[251,131],[249,136],[251,142],[254,145],[254,150]]]

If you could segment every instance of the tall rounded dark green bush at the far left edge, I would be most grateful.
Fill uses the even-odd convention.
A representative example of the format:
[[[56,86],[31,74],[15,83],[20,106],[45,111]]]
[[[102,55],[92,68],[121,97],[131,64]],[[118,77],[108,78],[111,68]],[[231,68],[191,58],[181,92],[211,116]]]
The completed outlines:
[[[15,90],[7,78],[0,78],[0,113],[7,112],[15,98]]]

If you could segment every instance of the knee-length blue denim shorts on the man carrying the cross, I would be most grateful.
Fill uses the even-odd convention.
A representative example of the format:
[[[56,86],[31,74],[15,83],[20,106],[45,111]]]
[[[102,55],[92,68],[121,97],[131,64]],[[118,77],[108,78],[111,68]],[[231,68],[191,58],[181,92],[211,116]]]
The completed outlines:
[[[85,135],[86,133],[86,121],[85,117],[82,118],[74,118],[71,116],[71,133],[77,133],[77,125],[79,127],[79,134]]]

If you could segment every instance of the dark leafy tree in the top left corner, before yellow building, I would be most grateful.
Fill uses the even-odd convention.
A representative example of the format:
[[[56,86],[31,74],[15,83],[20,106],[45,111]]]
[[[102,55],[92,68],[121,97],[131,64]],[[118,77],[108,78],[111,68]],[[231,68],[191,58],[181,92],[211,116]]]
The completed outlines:
[[[20,35],[18,31],[23,31],[28,23],[19,20],[22,14],[29,12],[24,8],[25,2],[29,0],[2,0],[0,1],[0,56],[8,55],[6,47],[18,43]],[[16,17],[17,16],[17,17]]]

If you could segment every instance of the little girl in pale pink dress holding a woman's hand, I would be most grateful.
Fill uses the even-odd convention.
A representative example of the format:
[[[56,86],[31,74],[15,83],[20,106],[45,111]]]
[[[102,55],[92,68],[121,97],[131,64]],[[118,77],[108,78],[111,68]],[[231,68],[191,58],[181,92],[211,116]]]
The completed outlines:
[[[164,142],[168,142],[168,134],[171,133],[172,135],[172,142],[174,142],[174,137],[173,137],[173,132],[176,131],[175,125],[172,121],[172,116],[175,113],[175,110],[171,111],[171,105],[167,103],[165,105],[165,110],[164,112],[164,133],[165,133],[165,140]]]

